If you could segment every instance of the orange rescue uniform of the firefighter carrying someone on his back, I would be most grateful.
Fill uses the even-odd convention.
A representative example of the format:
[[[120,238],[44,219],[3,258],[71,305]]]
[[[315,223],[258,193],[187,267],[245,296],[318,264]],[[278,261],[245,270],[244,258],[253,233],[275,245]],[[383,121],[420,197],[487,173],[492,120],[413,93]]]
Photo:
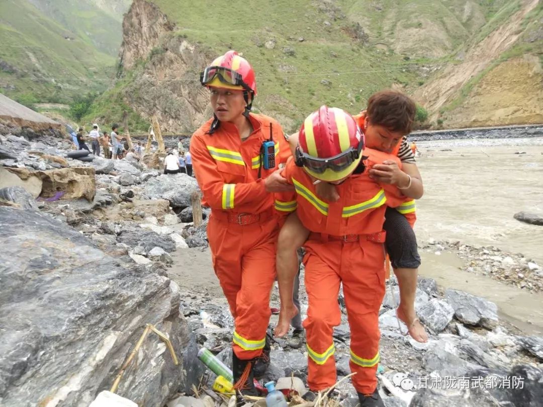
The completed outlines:
[[[364,149],[367,168],[393,155]],[[336,383],[333,327],[341,323],[338,306],[343,282],[351,329],[350,368],[357,392],[370,394],[377,386],[379,357],[378,311],[384,296],[384,212],[396,207],[403,196],[392,185],[371,180],[368,171],[352,174],[337,186],[339,201],[318,198],[312,179],[293,160],[283,173],[295,193],[276,194],[275,208],[283,214],[297,211],[311,231],[305,243],[305,285],[309,300],[304,327],[307,331],[308,377],[311,390]]]

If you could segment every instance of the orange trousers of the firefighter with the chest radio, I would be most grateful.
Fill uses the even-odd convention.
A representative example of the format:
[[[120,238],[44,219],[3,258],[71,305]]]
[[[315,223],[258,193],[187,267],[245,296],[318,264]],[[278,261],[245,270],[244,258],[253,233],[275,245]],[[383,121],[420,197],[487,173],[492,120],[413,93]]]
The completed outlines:
[[[234,317],[232,348],[239,359],[262,354],[275,280],[277,219],[240,225],[211,214],[207,238],[213,269]]]

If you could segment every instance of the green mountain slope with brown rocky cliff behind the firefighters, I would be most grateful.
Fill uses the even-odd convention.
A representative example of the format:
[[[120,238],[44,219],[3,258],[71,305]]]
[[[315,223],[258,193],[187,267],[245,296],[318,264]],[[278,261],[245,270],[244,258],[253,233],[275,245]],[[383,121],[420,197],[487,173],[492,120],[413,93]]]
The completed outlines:
[[[462,126],[469,121],[443,112],[464,103],[463,95],[498,61],[516,58],[515,49],[526,51],[522,41],[529,32],[535,39],[527,56],[539,61],[536,3],[233,0],[229,7],[210,8],[207,2],[135,0],[123,21],[121,76],[105,97],[122,101],[144,120],[159,115],[166,130],[190,133],[211,115],[199,72],[232,48],[255,67],[255,109],[287,130],[320,104],[356,112],[372,92],[387,87],[425,104],[431,124]],[[506,39],[497,41],[500,36]],[[475,64],[471,70],[466,61]],[[536,98],[537,86],[533,91]],[[485,104],[484,95],[479,103]],[[118,121],[112,109],[102,99],[87,120]],[[508,122],[536,117],[513,114]],[[483,112],[472,122],[490,123],[490,115]]]

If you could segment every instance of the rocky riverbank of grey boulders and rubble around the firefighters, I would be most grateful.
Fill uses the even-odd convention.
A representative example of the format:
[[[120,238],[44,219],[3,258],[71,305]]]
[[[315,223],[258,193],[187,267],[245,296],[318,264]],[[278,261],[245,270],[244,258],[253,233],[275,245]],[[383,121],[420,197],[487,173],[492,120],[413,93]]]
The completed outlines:
[[[172,340],[180,366],[150,336],[119,394],[159,407],[179,393],[192,395],[193,384],[209,388],[214,375],[195,354],[205,346],[230,364],[233,320],[223,296],[209,289],[217,283],[206,219],[199,228],[191,223],[194,178],[124,160],[87,164],[66,158],[69,149],[55,134],[33,140],[0,136],[2,181],[5,174],[21,181],[0,189],[0,244],[7,248],[0,254],[0,325],[10,327],[0,331],[0,371],[8,372],[0,380],[0,400],[15,407],[88,405],[109,389],[147,323]],[[467,271],[541,291],[541,267],[520,254],[442,241],[421,249],[457,253]],[[206,256],[205,264],[191,267],[210,276],[207,284],[172,272],[183,267],[173,264],[179,251]],[[421,344],[402,334],[407,329],[395,317],[398,297],[392,279],[379,317],[380,391],[388,407],[541,405],[543,338],[503,323],[487,299],[420,278],[416,310],[430,334]],[[338,302],[340,378],[350,373],[350,335],[342,295]],[[279,304],[276,289],[271,303]],[[270,332],[275,322],[273,316]],[[277,338],[272,347],[264,380],[293,374],[305,381],[304,349]],[[345,407],[357,403],[348,382],[333,397]]]

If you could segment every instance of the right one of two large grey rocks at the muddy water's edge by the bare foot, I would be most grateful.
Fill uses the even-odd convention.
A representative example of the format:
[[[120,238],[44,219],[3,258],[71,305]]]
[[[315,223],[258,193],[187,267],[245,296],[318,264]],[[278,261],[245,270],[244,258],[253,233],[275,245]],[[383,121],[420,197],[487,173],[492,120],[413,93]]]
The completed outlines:
[[[463,291],[446,290],[447,302],[454,309],[458,321],[486,329],[494,329],[498,323],[496,304],[482,297],[475,297]]]

